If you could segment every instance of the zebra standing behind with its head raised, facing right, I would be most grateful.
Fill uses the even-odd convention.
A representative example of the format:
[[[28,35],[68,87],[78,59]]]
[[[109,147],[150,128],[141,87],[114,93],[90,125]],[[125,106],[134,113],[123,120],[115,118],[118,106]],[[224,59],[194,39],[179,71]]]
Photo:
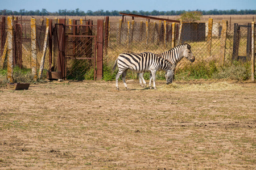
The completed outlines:
[[[141,55],[146,56],[147,54],[151,54],[150,52],[144,52],[141,53]],[[172,48],[171,50],[168,50],[167,52],[163,52],[160,54],[156,54],[159,57],[162,57],[164,59],[167,59],[169,62],[172,63],[173,65],[173,70],[175,69],[177,63],[183,58],[187,58],[189,61],[194,62],[195,61],[195,56],[193,56],[192,51],[191,51],[191,45],[185,43],[185,44],[180,44]],[[143,78],[144,73],[139,73],[139,84],[141,86],[146,86],[146,82]],[[143,84],[142,84],[143,82]]]

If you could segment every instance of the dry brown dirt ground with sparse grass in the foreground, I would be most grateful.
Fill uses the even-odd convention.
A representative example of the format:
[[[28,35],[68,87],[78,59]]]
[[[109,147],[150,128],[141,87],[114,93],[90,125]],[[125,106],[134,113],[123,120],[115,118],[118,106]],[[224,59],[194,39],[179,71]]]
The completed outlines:
[[[256,169],[256,84],[0,89],[0,169]]]

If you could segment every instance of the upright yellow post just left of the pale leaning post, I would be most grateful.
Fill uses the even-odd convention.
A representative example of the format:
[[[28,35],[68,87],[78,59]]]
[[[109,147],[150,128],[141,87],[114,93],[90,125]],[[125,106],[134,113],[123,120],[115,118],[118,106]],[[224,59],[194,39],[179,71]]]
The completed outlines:
[[[34,77],[33,80],[36,82],[37,75],[37,62],[36,62],[36,19],[31,18],[31,67],[32,67],[32,76]]]

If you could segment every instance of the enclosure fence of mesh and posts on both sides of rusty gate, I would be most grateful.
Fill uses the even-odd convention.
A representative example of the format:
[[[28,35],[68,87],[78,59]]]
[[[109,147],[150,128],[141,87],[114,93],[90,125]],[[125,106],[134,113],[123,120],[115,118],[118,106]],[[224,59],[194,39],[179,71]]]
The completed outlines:
[[[46,38],[49,19],[23,19],[22,16],[2,16],[0,19],[0,83],[37,81],[39,78],[46,78],[46,71],[52,69],[48,67],[47,59],[50,50]],[[54,18],[52,24],[58,22],[59,19]],[[65,22],[66,25],[73,23],[72,19],[66,19]],[[80,19],[76,24],[82,25],[86,22]],[[72,32],[71,26],[65,29],[67,35]],[[196,62],[203,62],[205,65],[210,62],[225,65],[233,60],[249,60],[252,61],[252,65],[254,64],[254,22],[238,25],[229,24],[227,20],[214,23],[212,19],[207,23],[134,20],[123,22],[120,19],[119,22],[105,22],[104,30],[106,65],[112,65],[123,52],[159,54],[184,43],[192,46]],[[92,35],[96,34],[97,31],[93,29]],[[54,46],[58,46],[56,43],[57,41]],[[57,56],[57,50],[51,50],[53,56]],[[39,76],[42,74],[39,66],[42,65],[43,57],[46,58],[44,74]],[[56,63],[56,58],[54,59],[53,63]],[[177,68],[185,63],[183,60]],[[254,75],[254,66],[251,70]],[[20,74],[25,74],[27,79],[21,79]]]

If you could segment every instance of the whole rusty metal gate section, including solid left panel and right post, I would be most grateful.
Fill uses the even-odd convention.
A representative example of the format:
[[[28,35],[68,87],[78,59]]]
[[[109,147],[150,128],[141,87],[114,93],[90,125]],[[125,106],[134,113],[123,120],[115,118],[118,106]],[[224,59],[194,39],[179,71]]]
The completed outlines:
[[[97,25],[93,25],[92,20],[86,20],[84,25],[78,22],[80,20],[74,20],[73,24],[66,25],[65,19],[55,24],[49,20],[51,69],[47,73],[48,79],[82,80],[92,74],[94,80],[102,78],[103,43],[99,40],[103,37],[103,20]],[[99,32],[99,28],[102,31]]]

